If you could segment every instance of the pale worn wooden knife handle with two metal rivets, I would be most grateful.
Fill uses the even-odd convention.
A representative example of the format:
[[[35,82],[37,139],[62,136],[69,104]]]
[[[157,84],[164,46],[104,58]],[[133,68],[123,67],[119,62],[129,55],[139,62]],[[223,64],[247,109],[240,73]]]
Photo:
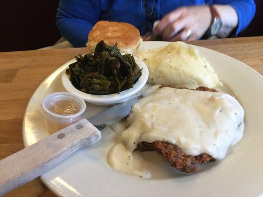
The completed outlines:
[[[101,138],[86,119],[0,161],[0,196],[26,184],[59,164],[78,149]]]

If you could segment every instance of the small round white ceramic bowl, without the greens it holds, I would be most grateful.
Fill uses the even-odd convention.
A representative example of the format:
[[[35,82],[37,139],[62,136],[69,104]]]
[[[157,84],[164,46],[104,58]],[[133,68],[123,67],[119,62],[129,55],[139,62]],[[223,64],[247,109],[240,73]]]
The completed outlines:
[[[69,75],[66,74],[64,71],[62,74],[62,84],[65,87],[67,91],[69,91],[72,94],[75,94],[76,96],[84,99],[85,101],[88,101],[92,104],[96,105],[113,105],[121,102],[125,102],[128,100],[131,96],[138,93],[146,84],[149,76],[149,71],[147,66],[143,61],[140,59],[134,57],[135,62],[137,65],[142,69],[142,76],[138,79],[138,81],[133,85],[132,88],[128,90],[121,91],[118,94],[111,94],[111,95],[91,95],[87,93],[83,93],[79,90],[77,90],[71,83],[69,79]]]

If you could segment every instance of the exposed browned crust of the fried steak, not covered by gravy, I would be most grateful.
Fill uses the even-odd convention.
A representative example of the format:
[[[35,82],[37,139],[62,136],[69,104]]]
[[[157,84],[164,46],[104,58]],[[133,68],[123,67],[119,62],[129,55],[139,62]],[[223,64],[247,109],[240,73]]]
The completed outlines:
[[[174,85],[161,85],[159,88],[163,88],[163,87],[177,88]],[[183,89],[183,88],[179,88],[179,89]],[[184,89],[188,89],[188,88],[184,88]],[[206,87],[198,87],[195,90],[218,92],[214,89],[210,89]],[[140,151],[159,151],[163,154],[165,159],[168,160],[171,166],[175,167],[181,172],[186,172],[186,173],[197,172],[198,170],[197,166],[195,166],[194,164],[203,164],[214,160],[214,158],[212,158],[208,154],[201,154],[198,156],[191,156],[191,155],[188,156],[178,146],[164,141],[155,141],[152,143],[140,142],[137,145],[137,149]]]

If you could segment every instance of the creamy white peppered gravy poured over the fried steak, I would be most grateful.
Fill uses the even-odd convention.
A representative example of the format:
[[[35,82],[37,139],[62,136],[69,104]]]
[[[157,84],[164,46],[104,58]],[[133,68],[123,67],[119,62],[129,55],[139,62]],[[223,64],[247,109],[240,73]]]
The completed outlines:
[[[129,128],[113,146],[108,162],[117,171],[150,177],[132,153],[139,142],[176,144],[186,155],[225,157],[227,148],[241,140],[244,110],[230,95],[218,92],[161,88],[133,105]]]

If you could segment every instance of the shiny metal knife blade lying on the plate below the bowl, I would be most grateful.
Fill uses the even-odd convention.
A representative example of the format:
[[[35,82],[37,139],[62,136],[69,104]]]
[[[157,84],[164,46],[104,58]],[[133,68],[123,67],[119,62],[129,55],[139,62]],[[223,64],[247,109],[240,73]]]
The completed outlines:
[[[96,116],[89,118],[88,121],[98,130],[102,131],[129,115],[132,105],[139,99],[141,99],[140,96],[130,99],[127,102],[116,104]]]

